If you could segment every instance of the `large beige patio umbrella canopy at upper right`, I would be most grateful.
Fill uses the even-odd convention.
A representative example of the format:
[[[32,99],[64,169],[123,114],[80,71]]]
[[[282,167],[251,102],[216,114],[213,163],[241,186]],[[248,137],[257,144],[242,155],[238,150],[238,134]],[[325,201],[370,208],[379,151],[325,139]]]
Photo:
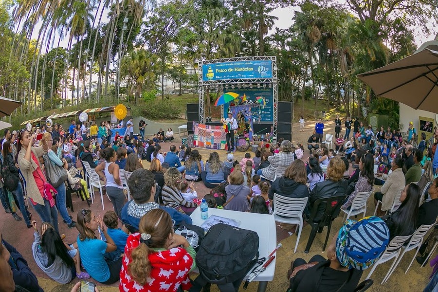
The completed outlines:
[[[357,76],[378,96],[438,113],[438,41],[426,42],[414,55]]]

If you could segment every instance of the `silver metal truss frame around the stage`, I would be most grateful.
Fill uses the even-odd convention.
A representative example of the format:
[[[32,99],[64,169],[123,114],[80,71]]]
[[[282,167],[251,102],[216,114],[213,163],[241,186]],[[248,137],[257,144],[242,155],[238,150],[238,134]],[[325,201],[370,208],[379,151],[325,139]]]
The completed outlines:
[[[203,81],[202,80],[202,65],[204,64],[213,64],[213,63],[221,63],[221,62],[237,62],[237,61],[254,61],[254,60],[271,60],[272,62],[272,78],[243,78],[243,79],[231,79],[231,80],[211,80],[211,81]],[[252,56],[252,57],[233,57],[233,58],[221,58],[221,59],[213,59],[213,60],[202,60],[198,62],[198,81],[199,81],[199,120],[201,123],[205,124],[205,93],[204,88],[209,87],[210,89],[222,90],[223,87],[227,85],[234,85],[242,88],[252,88],[253,84],[257,85],[268,85],[273,89],[274,96],[274,109],[273,109],[273,143],[277,142],[277,116],[278,116],[278,77],[277,77],[277,58],[275,56]],[[220,109],[221,116],[223,116],[223,106]]]

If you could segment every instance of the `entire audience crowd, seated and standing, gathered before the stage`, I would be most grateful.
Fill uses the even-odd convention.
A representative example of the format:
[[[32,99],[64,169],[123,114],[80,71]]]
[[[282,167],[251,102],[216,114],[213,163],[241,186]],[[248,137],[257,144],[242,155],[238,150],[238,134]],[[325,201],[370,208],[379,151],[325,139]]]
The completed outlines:
[[[34,260],[60,284],[74,278],[92,278],[102,284],[118,282],[120,291],[164,288],[181,291],[190,290],[189,273],[196,268],[196,251],[174,228],[192,224],[190,214],[201,199],[210,208],[272,214],[275,194],[291,199],[309,198],[303,217],[305,221],[317,222],[325,212],[324,206],[316,206],[318,199],[344,197],[335,211],[336,217],[341,209],[351,208],[358,193],[370,192],[375,185],[381,185],[381,190],[373,195],[376,217],[347,220],[329,245],[328,259],[317,255],[307,263],[297,258],[288,271],[291,292],[352,291],[363,270],[382,255],[394,237],[412,235],[421,225],[436,221],[438,129],[433,140],[421,139],[416,143],[416,131],[411,126],[408,139],[403,140],[398,136],[400,131],[392,132],[390,128],[384,131],[382,127],[377,133],[370,127],[365,130],[358,118],[354,122],[346,119],[344,135],[341,125],[337,116],[336,140],[334,148],[329,149],[322,143],[324,123],[319,120],[315,124],[308,140],[308,159],[303,159],[304,145],[292,145],[280,138],[276,145],[263,147],[254,155],[245,153],[240,161],[232,151],[225,161],[216,151],[203,161],[197,149],[184,145],[172,144],[170,151],[163,152],[161,143],[172,143],[172,129],[167,132],[160,129],[151,139],[144,140],[144,133],[137,137],[131,131],[132,119],[127,122],[124,135],[118,135],[117,128],[111,128],[107,122],[100,127],[93,123],[83,131],[72,121],[72,133],[69,134],[69,129],[63,135],[57,125],[35,132],[7,129],[0,155],[1,203],[6,213],[18,221],[22,220],[17,213],[20,210],[27,227],[34,228]],[[146,127],[144,122],[139,124],[142,127],[143,130]],[[115,136],[107,139],[113,131]],[[87,208],[79,210],[74,220],[68,214],[66,187],[84,188],[83,200],[89,199],[89,186],[75,168],[76,160],[89,163],[105,186],[113,210],[103,218]],[[149,170],[144,168],[144,160],[150,162]],[[132,200],[127,202],[122,169],[131,173],[125,187]],[[196,191],[195,183],[201,181],[211,189],[209,194]],[[32,220],[23,200],[24,191],[41,224]],[[401,204],[391,210],[398,194]],[[65,242],[59,233],[58,213],[68,228],[77,229],[75,242]],[[280,227],[297,228],[285,223]],[[433,230],[420,249],[417,261],[421,264],[435,243],[435,230],[438,229]],[[1,240],[0,290],[42,291],[26,260]],[[369,245],[364,247],[361,241]],[[437,274],[433,279],[438,278]],[[432,286],[425,291],[432,291]],[[77,285],[73,291],[79,291]]]

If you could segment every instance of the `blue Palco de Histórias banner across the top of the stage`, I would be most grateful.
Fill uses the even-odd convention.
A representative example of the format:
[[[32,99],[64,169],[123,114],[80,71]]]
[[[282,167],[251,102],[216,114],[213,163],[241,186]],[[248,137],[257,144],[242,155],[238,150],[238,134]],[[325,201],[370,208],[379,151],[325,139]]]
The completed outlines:
[[[271,60],[220,62],[202,65],[202,80],[272,78]]]

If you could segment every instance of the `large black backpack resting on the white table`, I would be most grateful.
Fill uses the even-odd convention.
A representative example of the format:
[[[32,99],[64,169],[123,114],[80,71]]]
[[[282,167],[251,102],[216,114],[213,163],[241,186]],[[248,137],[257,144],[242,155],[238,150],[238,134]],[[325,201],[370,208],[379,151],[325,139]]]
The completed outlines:
[[[240,283],[258,261],[259,237],[255,231],[227,224],[213,225],[196,255],[199,276],[195,287],[216,284],[221,292],[238,291]]]

